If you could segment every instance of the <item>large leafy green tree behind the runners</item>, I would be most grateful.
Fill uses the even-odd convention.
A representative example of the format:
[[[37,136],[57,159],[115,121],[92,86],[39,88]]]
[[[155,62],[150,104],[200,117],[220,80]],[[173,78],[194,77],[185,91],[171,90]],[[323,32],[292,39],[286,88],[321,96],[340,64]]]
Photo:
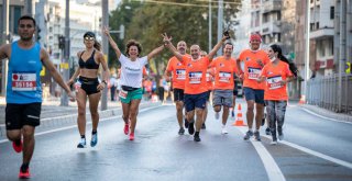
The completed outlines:
[[[161,3],[163,2],[163,3]],[[224,24],[231,25],[240,0],[224,0]],[[130,7],[131,9],[125,9]],[[128,11],[127,11],[128,10]],[[208,0],[173,0],[173,1],[121,1],[118,10],[110,18],[112,29],[119,29],[119,23],[125,23],[125,37],[136,39],[143,45],[142,55],[162,45],[161,34],[166,32],[173,36],[173,42],[185,41],[188,47],[198,44],[201,48],[208,49]],[[217,42],[217,13],[218,1],[212,2],[212,42]],[[114,24],[113,24],[114,23]],[[117,36],[113,36],[118,39]],[[123,45],[119,44],[122,50]],[[124,48],[124,47],[123,47]],[[164,67],[170,57],[165,50],[151,64],[156,73],[164,71]]]

